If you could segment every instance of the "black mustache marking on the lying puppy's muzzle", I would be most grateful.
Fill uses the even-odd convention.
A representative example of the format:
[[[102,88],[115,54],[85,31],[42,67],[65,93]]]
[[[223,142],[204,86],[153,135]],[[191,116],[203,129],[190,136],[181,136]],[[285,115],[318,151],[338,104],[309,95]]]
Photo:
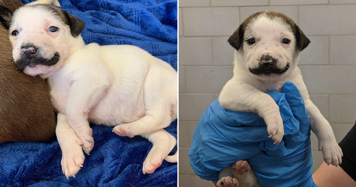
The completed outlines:
[[[58,52],[54,53],[53,57],[50,59],[43,58],[40,55],[36,55],[36,57],[32,59],[21,58],[19,60],[16,60],[15,66],[18,70],[21,71],[23,71],[26,68],[26,66],[35,66],[35,65],[51,66],[57,64],[60,57],[61,55],[59,55]]]

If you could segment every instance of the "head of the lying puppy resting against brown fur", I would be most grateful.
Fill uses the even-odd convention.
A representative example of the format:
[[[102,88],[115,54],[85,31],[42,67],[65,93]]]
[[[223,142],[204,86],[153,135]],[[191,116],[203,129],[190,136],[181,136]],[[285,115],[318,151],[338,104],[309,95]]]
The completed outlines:
[[[45,4],[22,6],[15,12],[0,6],[0,17],[9,29],[15,66],[32,76],[58,70],[85,25],[68,12]]]

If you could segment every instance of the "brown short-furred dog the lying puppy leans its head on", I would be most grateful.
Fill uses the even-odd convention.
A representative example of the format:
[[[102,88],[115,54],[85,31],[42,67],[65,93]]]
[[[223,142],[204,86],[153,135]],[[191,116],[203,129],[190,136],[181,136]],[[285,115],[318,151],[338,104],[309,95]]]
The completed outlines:
[[[11,10],[17,0],[0,0]],[[0,143],[45,141],[56,135],[56,117],[47,82],[18,71],[12,59],[9,32],[0,26]]]

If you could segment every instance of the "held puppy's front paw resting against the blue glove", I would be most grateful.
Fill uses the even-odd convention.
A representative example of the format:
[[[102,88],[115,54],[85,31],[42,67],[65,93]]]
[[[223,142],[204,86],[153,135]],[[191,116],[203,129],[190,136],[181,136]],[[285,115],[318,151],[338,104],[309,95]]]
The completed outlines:
[[[281,115],[274,115],[271,117],[265,118],[265,122],[267,125],[267,132],[269,137],[272,138],[274,144],[279,144],[282,141],[284,135],[284,128],[283,128],[283,120]]]

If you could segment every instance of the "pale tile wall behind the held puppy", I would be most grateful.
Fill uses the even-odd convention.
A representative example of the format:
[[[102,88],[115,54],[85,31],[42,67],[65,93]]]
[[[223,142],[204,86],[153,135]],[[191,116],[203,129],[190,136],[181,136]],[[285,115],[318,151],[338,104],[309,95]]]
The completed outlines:
[[[355,124],[356,0],[179,0],[179,6],[179,186],[214,186],[194,175],[188,151],[201,114],[232,76],[234,49],[226,41],[256,11],[288,15],[312,41],[299,67],[336,140]],[[314,133],[311,139],[315,171],[323,155]]]

